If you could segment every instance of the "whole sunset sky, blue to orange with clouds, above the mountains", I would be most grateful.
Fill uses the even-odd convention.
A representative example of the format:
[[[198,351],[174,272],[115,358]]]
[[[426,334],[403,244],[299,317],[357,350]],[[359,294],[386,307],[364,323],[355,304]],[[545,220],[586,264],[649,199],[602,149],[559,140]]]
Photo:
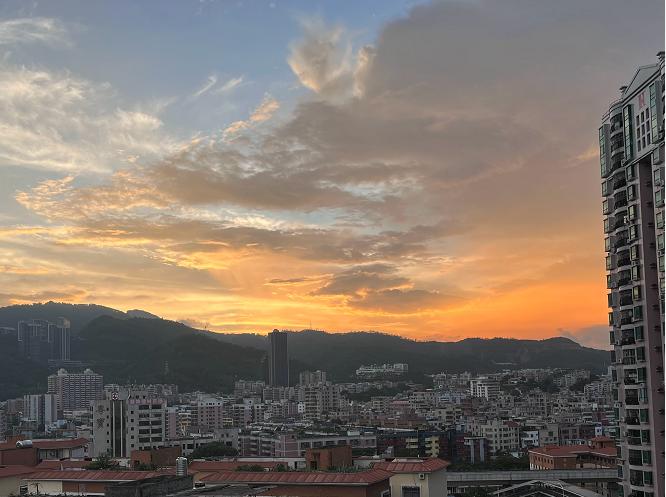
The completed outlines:
[[[656,0],[4,0],[0,305],[607,348]]]

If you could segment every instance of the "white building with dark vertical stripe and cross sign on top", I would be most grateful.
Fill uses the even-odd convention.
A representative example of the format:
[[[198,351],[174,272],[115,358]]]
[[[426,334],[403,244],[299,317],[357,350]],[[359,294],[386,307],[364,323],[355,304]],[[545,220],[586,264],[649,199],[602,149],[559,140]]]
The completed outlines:
[[[166,400],[147,391],[121,389],[93,406],[94,455],[129,457],[133,450],[164,447]]]

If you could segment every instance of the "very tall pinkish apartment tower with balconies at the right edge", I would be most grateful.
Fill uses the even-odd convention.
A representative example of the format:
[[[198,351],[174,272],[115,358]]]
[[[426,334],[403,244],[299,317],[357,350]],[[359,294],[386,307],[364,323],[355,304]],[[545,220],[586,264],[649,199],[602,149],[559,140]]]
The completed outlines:
[[[641,66],[599,128],[624,495],[664,496],[664,53]]]

